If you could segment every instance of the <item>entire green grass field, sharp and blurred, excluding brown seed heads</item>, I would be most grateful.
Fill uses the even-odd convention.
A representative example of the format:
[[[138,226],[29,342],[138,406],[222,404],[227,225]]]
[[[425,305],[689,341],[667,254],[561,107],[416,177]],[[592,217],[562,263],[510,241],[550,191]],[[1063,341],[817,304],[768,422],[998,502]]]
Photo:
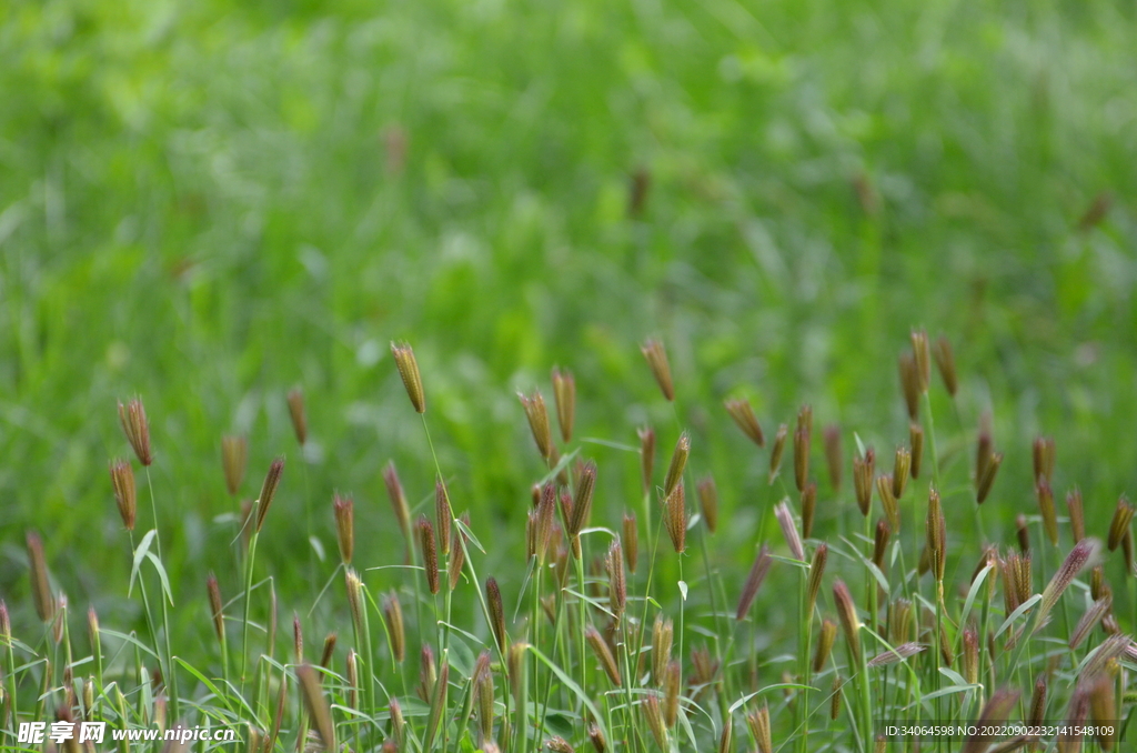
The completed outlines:
[[[463,702],[473,704],[474,676],[484,676],[475,670],[483,647],[497,684],[487,737],[503,750],[553,735],[586,748],[588,727],[576,719],[588,704],[612,750],[661,742],[711,750],[730,728],[725,712],[760,693],[733,710],[737,750],[763,747],[762,730],[744,717],[760,714],[765,701],[775,750],[853,751],[873,743],[862,727],[870,712],[913,718],[920,708],[924,718],[974,719],[985,701],[1003,698],[1002,686],[1024,693],[1007,714],[1026,718],[1039,673],[1056,694],[1046,719],[1070,718],[1068,703],[1085,698],[1063,684],[1085,697],[1102,685],[1077,681],[1105,631],[1063,648],[1102,598],[1096,586],[1090,593],[1090,570],[1035,637],[985,653],[981,681],[939,671],[946,659],[935,651],[937,617],[928,622],[921,612],[943,607],[945,643],[958,654],[948,669],[968,680],[961,612],[984,546],[1009,557],[1018,547],[1015,518],[1027,515],[1028,595],[1040,594],[1076,551],[1068,490],[1080,489],[1085,530],[1103,543],[1119,496],[1134,491],[1135,33],[1135,9],[1110,2],[3,5],[0,597],[18,639],[0,656],[5,734],[15,735],[16,721],[55,720],[59,706],[144,727],[161,706],[151,693],[167,688],[140,682],[139,669],[169,667],[173,655],[189,664],[173,664],[181,718],[235,725],[250,748],[250,730],[271,737],[275,693],[288,687],[275,744],[294,750],[313,714],[301,713],[293,612],[307,662],[319,659],[325,635],[339,634],[330,664],[337,677],[323,677],[313,695],[334,704],[339,742],[356,751],[393,735],[388,694],[407,711],[401,750],[472,750],[478,725],[464,726],[460,712]],[[903,546],[878,568],[887,594],[877,593],[863,561],[872,541],[858,538],[872,537],[879,500],[865,519],[854,499],[858,441],[875,448],[880,473],[908,446],[897,358],[911,353],[910,333],[920,328],[952,344],[960,382],[953,399],[932,367],[918,412],[929,440],[924,467],[941,474],[944,604],[933,573],[914,572],[931,475],[912,480],[902,496],[893,546]],[[661,395],[640,353],[649,338],[666,346],[674,402]],[[399,379],[395,340],[417,356],[432,446]],[[571,370],[576,384],[571,440],[559,439],[553,420],[558,452],[597,465],[589,526],[620,532],[625,511],[639,516],[630,617],[613,639],[626,662],[621,684],[601,673],[578,619],[583,613],[605,629],[608,617],[597,606],[609,604],[604,569],[595,578],[578,573],[580,561],[570,556],[561,590],[550,573],[537,578],[543,569],[526,565],[531,489],[551,463],[534,449],[517,392],[540,389],[555,414],[554,366]],[[294,388],[307,412],[304,448],[285,399]],[[752,400],[764,448],[723,406],[740,396]],[[134,397],[149,416],[148,473],[117,413]],[[819,490],[804,553],[811,558],[822,541],[831,551],[806,620],[797,589],[808,570],[785,561],[790,548],[774,515],[788,498],[800,530],[792,444],[803,405],[812,406],[807,477]],[[1003,462],[977,513],[985,413]],[[770,482],[782,423],[789,446]],[[637,436],[645,425],[657,437],[646,496]],[[839,488],[827,467],[829,427],[839,428]],[[659,529],[658,493],[682,431],[691,442],[687,512],[697,512],[696,486],[707,474],[720,510],[713,537],[691,519],[678,557]],[[225,435],[248,440],[236,495],[222,470]],[[1032,442],[1040,436],[1056,448],[1049,485],[1057,545],[1044,533],[1036,500]],[[280,455],[281,486],[250,557],[239,533],[241,500],[257,497]],[[133,543],[107,471],[119,457],[132,461],[138,479]],[[439,523],[439,474],[454,512],[470,514],[484,552],[472,546],[473,569],[453,603],[430,598],[418,571],[375,569],[404,563],[405,537],[384,489],[388,461],[415,516]],[[564,480],[576,494],[567,465]],[[370,628],[359,614],[352,620],[338,569],[335,494],[355,500],[352,564],[372,598]],[[165,619],[157,569],[144,555],[148,601],[138,584],[130,588],[132,546],[155,527],[153,511],[174,604]],[[53,627],[66,621],[67,640],[55,639],[52,620],[35,607],[28,531],[42,537],[48,590],[66,594],[67,619]],[[581,571],[609,540],[586,533]],[[762,544],[782,560],[736,627]],[[421,562],[417,545],[412,552]],[[1118,628],[1134,634],[1137,591],[1123,560],[1119,547],[1102,572]],[[250,564],[260,585],[246,599]],[[210,570],[226,601],[227,659],[210,620]],[[599,581],[584,584],[596,589],[587,609],[579,609],[579,574]],[[509,652],[495,647],[489,605],[479,597],[489,576],[500,584],[511,639],[549,660],[536,652],[524,659],[528,715],[516,715]],[[991,598],[976,591],[972,599],[980,636],[1013,611],[1001,568],[989,576]],[[879,681],[873,675],[865,695],[852,682],[840,721],[829,721],[824,702],[806,738],[802,708],[822,703],[833,675],[869,677],[836,651],[812,678],[816,690],[770,687],[783,673],[791,686],[811,677],[808,639],[823,619],[836,619],[837,578],[852,589],[864,628],[873,624],[873,604],[883,622],[886,604],[913,601],[907,637],[927,649],[888,667]],[[260,659],[269,582],[280,622],[275,665]],[[401,663],[389,661],[381,629],[391,589],[410,638]],[[559,595],[554,626],[536,627],[543,617],[534,593]],[[72,705],[64,689],[67,664],[75,663],[75,678],[93,677],[101,664],[83,617],[89,606],[110,631],[94,709],[82,692]],[[1039,607],[1010,631],[1034,624]],[[455,630],[435,634],[443,612]],[[665,682],[650,667],[629,671],[652,644],[656,613],[674,621],[686,720],[667,725],[665,740],[644,719]],[[368,630],[373,646],[365,645]],[[116,637],[132,631],[138,643]],[[854,632],[866,659],[883,651],[875,636]],[[426,715],[433,697],[420,702],[408,689],[420,636],[453,663],[450,693],[434,703],[448,721],[435,734]],[[70,659],[64,646],[73,646]],[[703,646],[722,667],[700,685],[705,668],[690,651]],[[359,670],[355,696],[346,685],[351,652],[374,667]],[[243,661],[255,665],[248,681]],[[1131,708],[1131,661],[1110,676],[1120,719]],[[662,669],[670,671],[666,662]],[[912,695],[953,687],[962,689],[935,702]],[[18,719],[9,713],[13,690]],[[523,717],[528,725],[517,723]],[[481,723],[480,713],[473,719]],[[2,744],[8,750],[9,739]]]

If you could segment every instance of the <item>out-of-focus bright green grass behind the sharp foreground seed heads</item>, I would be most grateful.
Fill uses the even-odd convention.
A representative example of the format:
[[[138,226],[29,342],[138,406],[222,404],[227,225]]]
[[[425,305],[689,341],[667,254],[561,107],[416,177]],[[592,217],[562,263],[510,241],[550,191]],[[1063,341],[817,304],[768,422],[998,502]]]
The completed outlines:
[[[938,380],[935,402],[957,488],[994,414],[988,537],[1036,510],[1037,433],[1104,535],[1137,467],[1135,38],[1134,3],[1106,1],[8,0],[0,593],[34,623],[35,528],[77,609],[132,609],[107,463],[134,395],[184,629],[208,635],[207,568],[238,588],[223,433],[249,437],[246,497],[289,457],[260,544],[284,609],[332,571],[333,489],[356,498],[357,563],[398,560],[381,467],[415,502],[433,478],[404,338],[455,506],[495,543],[483,572],[522,561],[541,465],[515,392],[551,403],[551,366],[575,373],[578,437],[634,445],[652,422],[658,465],[692,430],[721,562],[745,572],[767,455],[723,398],[752,396],[767,435],[814,406],[833,519],[820,428],[846,454],[854,431],[886,457],[906,440],[912,326],[955,346],[957,407]],[[580,446],[594,522],[615,524],[638,460]],[[946,503],[970,571],[973,502]],[[310,590],[309,533],[329,553]]]

